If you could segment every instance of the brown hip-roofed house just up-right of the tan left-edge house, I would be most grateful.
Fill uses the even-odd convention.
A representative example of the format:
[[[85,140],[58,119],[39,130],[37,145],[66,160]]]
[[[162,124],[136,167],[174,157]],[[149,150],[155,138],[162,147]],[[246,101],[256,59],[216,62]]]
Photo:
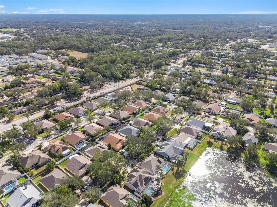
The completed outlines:
[[[50,157],[40,150],[35,150],[34,152],[27,154],[27,155],[21,155],[20,157],[21,166],[23,168],[34,168],[37,165],[42,166],[46,164],[46,162],[50,161]]]

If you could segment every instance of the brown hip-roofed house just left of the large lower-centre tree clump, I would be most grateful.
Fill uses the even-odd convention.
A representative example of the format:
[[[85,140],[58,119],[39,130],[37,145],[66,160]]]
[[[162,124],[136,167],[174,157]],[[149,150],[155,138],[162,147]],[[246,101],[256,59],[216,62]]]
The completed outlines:
[[[90,163],[91,161],[82,155],[74,156],[65,165],[65,169],[78,177],[83,177],[86,174]]]

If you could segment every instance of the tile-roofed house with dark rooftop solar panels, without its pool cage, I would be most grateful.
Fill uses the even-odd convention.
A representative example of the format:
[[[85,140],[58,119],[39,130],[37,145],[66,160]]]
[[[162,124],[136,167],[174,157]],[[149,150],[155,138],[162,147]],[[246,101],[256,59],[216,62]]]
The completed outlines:
[[[148,187],[149,184],[151,185],[154,178],[155,177],[153,175],[150,175],[147,170],[134,167],[128,175],[124,184],[131,190],[135,191],[135,194],[141,195],[143,189]],[[147,191],[145,192],[147,193]],[[153,193],[154,191],[152,191],[152,194]]]

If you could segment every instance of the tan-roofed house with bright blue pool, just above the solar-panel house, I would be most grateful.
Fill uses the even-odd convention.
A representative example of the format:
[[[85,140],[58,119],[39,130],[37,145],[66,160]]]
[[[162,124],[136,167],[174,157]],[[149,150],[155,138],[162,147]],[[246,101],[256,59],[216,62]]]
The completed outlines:
[[[167,173],[172,166],[170,162],[167,162],[154,154],[150,154],[148,158],[138,163],[139,168],[147,170],[151,175],[156,175],[158,173],[156,168],[157,165],[161,167],[163,173]]]

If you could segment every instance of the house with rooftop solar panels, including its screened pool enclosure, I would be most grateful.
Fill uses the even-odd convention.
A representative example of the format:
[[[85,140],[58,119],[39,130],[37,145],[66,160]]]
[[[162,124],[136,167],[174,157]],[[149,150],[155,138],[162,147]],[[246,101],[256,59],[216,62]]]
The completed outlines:
[[[134,194],[141,197],[141,194],[147,193],[148,196],[152,196],[158,189],[158,183],[155,182],[155,177],[150,175],[147,170],[134,167],[128,175],[125,186],[134,191]],[[147,189],[151,190],[147,190]]]

